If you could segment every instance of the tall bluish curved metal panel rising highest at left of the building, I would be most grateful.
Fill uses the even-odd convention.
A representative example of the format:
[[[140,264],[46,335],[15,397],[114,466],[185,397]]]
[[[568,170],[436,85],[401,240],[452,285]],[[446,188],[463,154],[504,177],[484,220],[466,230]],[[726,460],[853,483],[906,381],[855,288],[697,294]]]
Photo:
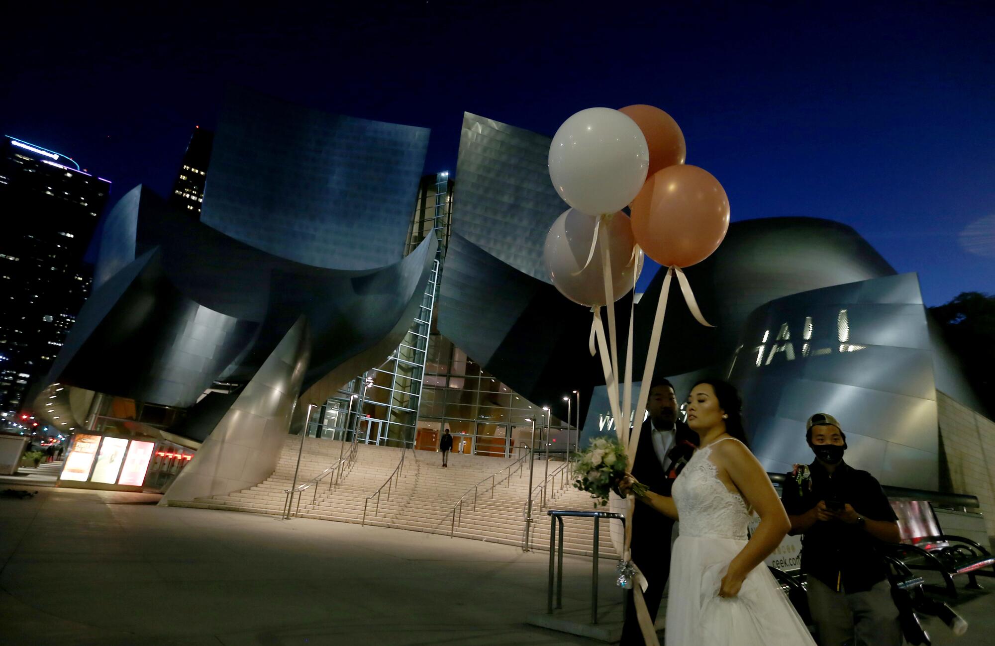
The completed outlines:
[[[229,89],[201,221],[304,264],[401,259],[429,131],[328,114]]]

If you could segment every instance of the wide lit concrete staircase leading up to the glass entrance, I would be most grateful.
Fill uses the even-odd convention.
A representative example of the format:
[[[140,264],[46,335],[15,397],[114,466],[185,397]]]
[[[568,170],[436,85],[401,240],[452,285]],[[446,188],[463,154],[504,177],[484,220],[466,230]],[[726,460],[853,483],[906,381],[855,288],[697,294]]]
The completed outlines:
[[[243,491],[226,495],[198,498],[193,502],[171,501],[170,504],[202,509],[223,509],[256,514],[280,515],[283,512],[287,494],[291,487],[298,460],[300,438],[289,435],[284,442],[280,462],[273,475],[265,482]],[[337,440],[305,438],[300,458],[298,484],[307,482],[333,464],[341,450]],[[344,447],[348,451],[348,444]],[[363,518],[363,505],[367,496],[374,493],[386,482],[397,467],[401,449],[386,446],[359,444],[355,464],[346,471],[337,485],[329,488],[328,479],[304,491],[300,499],[298,516],[344,523],[360,523]],[[525,528],[523,511],[528,493],[528,465],[514,467],[510,478],[500,482],[507,474],[496,477],[499,483],[490,491],[489,479],[497,471],[511,466],[512,458],[494,458],[480,455],[451,454],[449,467],[442,467],[442,457],[431,451],[408,449],[404,466],[399,477],[395,477],[388,496],[385,487],[380,494],[379,509],[376,498],[369,501],[366,511],[366,524],[377,527],[428,532],[464,539],[490,541],[504,545],[521,547]],[[550,461],[549,473],[563,463]],[[519,468],[523,466],[524,468]],[[539,456],[535,459],[533,487],[542,482],[545,464]],[[462,515],[453,528],[453,507],[468,489],[480,485],[476,510],[473,494],[464,500]],[[561,485],[562,483],[562,485]],[[594,509],[588,494],[570,486],[569,477],[555,478],[549,486],[551,500],[540,509],[540,502],[533,501],[532,548],[548,550],[549,517],[546,509],[573,509],[590,511]],[[563,549],[566,554],[592,554],[593,521],[584,518],[564,519],[565,535]],[[602,522],[599,554],[614,557],[608,523]]]

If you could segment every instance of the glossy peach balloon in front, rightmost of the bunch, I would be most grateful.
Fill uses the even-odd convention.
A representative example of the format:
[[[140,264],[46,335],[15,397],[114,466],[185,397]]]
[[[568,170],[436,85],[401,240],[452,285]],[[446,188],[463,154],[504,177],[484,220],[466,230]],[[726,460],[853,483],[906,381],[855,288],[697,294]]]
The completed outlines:
[[[632,203],[632,233],[664,266],[687,267],[711,255],[729,229],[729,200],[711,173],[668,166],[646,181]]]

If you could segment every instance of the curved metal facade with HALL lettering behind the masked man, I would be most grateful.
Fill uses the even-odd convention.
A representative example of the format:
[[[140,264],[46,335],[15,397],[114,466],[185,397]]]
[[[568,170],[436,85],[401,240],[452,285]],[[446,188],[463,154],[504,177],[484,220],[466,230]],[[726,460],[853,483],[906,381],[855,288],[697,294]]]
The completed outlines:
[[[768,471],[811,457],[805,420],[825,411],[847,433],[849,464],[889,485],[937,488],[933,347],[915,274],[764,304],[741,328],[729,375]]]

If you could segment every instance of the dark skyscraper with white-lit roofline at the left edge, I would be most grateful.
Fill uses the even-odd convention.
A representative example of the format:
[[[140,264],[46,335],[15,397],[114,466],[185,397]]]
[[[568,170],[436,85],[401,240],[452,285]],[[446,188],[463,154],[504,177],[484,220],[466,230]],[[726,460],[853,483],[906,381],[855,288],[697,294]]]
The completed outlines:
[[[110,182],[62,153],[0,139],[0,412],[12,418],[90,293],[83,256]],[[6,425],[6,424],[4,424]]]

